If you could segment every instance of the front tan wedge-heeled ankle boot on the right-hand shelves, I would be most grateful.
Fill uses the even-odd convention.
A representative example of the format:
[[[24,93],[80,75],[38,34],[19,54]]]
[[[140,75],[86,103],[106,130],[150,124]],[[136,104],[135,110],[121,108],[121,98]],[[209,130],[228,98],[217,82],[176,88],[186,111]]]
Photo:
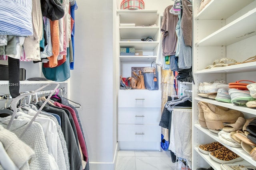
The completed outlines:
[[[204,111],[204,119],[208,129],[219,130],[224,127],[223,123],[235,123],[238,117],[244,117],[240,111],[230,109],[223,110],[213,104],[200,104]]]

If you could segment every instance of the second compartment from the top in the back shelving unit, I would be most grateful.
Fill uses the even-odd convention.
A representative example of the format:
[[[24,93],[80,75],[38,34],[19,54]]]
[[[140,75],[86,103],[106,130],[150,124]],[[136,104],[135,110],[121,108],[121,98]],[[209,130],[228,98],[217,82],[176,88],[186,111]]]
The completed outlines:
[[[142,39],[148,36],[154,37],[159,27],[120,27],[121,39]]]

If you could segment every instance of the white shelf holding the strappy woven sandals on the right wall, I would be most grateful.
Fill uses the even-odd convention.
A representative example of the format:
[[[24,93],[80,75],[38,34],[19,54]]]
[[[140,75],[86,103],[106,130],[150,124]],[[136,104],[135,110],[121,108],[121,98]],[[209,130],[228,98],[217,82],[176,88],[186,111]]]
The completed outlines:
[[[256,62],[235,64],[231,66],[216,67],[211,69],[204,69],[194,71],[194,74],[210,74],[210,73],[237,73],[237,72],[250,72],[256,70]]]

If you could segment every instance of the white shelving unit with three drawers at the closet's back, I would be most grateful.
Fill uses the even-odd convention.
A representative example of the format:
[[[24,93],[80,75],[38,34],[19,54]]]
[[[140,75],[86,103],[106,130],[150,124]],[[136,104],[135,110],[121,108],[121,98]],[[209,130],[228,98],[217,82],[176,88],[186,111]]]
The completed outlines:
[[[156,61],[160,38],[160,14],[156,10],[117,10],[116,22],[118,74],[130,77],[132,67],[147,67]],[[141,41],[148,36],[154,41]],[[135,48],[135,51],[141,51],[142,55],[120,55],[120,48]],[[158,68],[159,87],[160,75]],[[161,101],[160,89],[118,91],[119,149],[160,151],[161,127],[158,124]]]

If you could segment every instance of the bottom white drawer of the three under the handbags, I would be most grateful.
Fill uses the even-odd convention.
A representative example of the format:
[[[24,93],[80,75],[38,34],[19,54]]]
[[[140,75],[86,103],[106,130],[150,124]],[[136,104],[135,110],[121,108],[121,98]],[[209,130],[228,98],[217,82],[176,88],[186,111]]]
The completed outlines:
[[[161,127],[118,124],[118,141],[161,141]]]

